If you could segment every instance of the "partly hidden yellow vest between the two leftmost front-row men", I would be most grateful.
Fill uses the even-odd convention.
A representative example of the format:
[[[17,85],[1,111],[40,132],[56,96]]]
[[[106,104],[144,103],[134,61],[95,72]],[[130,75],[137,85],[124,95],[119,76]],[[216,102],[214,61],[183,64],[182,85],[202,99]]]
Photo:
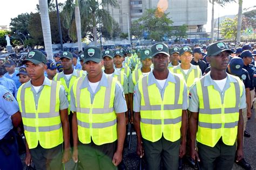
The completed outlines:
[[[68,112],[70,114],[70,90],[71,90],[71,87],[74,83],[74,81],[79,78],[79,77],[82,77],[83,76],[83,70],[75,70],[77,72],[77,77],[76,76],[71,76],[71,79],[70,79],[70,82],[69,82],[69,87],[68,85],[66,85],[66,81],[64,79],[64,77],[60,77],[61,76],[61,73],[57,73],[55,77],[53,77],[53,80],[55,81],[60,81],[61,84],[64,86],[65,88],[65,91],[67,93],[67,97],[68,97],[68,101],[69,101],[69,108],[68,108]]]

